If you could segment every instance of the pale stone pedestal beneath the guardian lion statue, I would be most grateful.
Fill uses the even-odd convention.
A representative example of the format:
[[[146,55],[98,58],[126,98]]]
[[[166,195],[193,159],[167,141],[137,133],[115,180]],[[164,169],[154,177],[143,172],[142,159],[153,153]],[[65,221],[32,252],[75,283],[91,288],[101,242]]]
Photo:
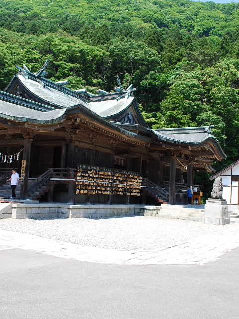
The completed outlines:
[[[225,225],[230,223],[228,218],[228,204],[224,199],[206,200],[204,208],[204,224]]]

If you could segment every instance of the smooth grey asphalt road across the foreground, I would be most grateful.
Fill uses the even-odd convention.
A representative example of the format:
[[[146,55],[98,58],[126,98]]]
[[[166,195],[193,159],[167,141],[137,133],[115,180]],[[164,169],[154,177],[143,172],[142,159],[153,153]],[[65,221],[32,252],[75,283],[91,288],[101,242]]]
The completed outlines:
[[[124,266],[0,251],[0,319],[239,319],[239,249],[205,265]]]

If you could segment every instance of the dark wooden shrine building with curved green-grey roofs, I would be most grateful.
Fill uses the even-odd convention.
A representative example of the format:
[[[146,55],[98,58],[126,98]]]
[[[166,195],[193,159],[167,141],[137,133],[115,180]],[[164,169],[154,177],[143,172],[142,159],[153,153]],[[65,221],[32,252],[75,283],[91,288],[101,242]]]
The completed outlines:
[[[21,199],[184,203],[193,173],[226,157],[210,126],[150,129],[132,85],[74,91],[45,77],[48,62],[17,66],[0,91],[0,187],[15,167]]]

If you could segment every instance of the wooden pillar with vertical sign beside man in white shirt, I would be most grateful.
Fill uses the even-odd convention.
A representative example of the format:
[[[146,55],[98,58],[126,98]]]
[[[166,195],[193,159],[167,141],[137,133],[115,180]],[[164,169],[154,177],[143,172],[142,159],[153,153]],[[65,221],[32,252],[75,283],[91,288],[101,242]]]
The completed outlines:
[[[28,178],[30,170],[30,158],[31,158],[31,143],[32,140],[24,140],[23,160],[26,160],[25,176],[21,176],[21,194],[20,199],[25,199],[28,196]]]

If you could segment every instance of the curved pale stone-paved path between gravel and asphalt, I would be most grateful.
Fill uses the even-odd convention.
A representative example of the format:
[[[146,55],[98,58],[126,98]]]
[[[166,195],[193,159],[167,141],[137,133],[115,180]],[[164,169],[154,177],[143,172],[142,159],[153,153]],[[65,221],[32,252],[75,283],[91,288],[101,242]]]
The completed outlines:
[[[235,218],[235,222],[238,218]],[[30,234],[0,230],[2,249],[20,248],[79,261],[122,265],[202,265],[239,247],[238,227],[220,227],[217,233],[196,237],[156,250],[116,250],[82,246]],[[1,249],[1,248],[0,248]]]

